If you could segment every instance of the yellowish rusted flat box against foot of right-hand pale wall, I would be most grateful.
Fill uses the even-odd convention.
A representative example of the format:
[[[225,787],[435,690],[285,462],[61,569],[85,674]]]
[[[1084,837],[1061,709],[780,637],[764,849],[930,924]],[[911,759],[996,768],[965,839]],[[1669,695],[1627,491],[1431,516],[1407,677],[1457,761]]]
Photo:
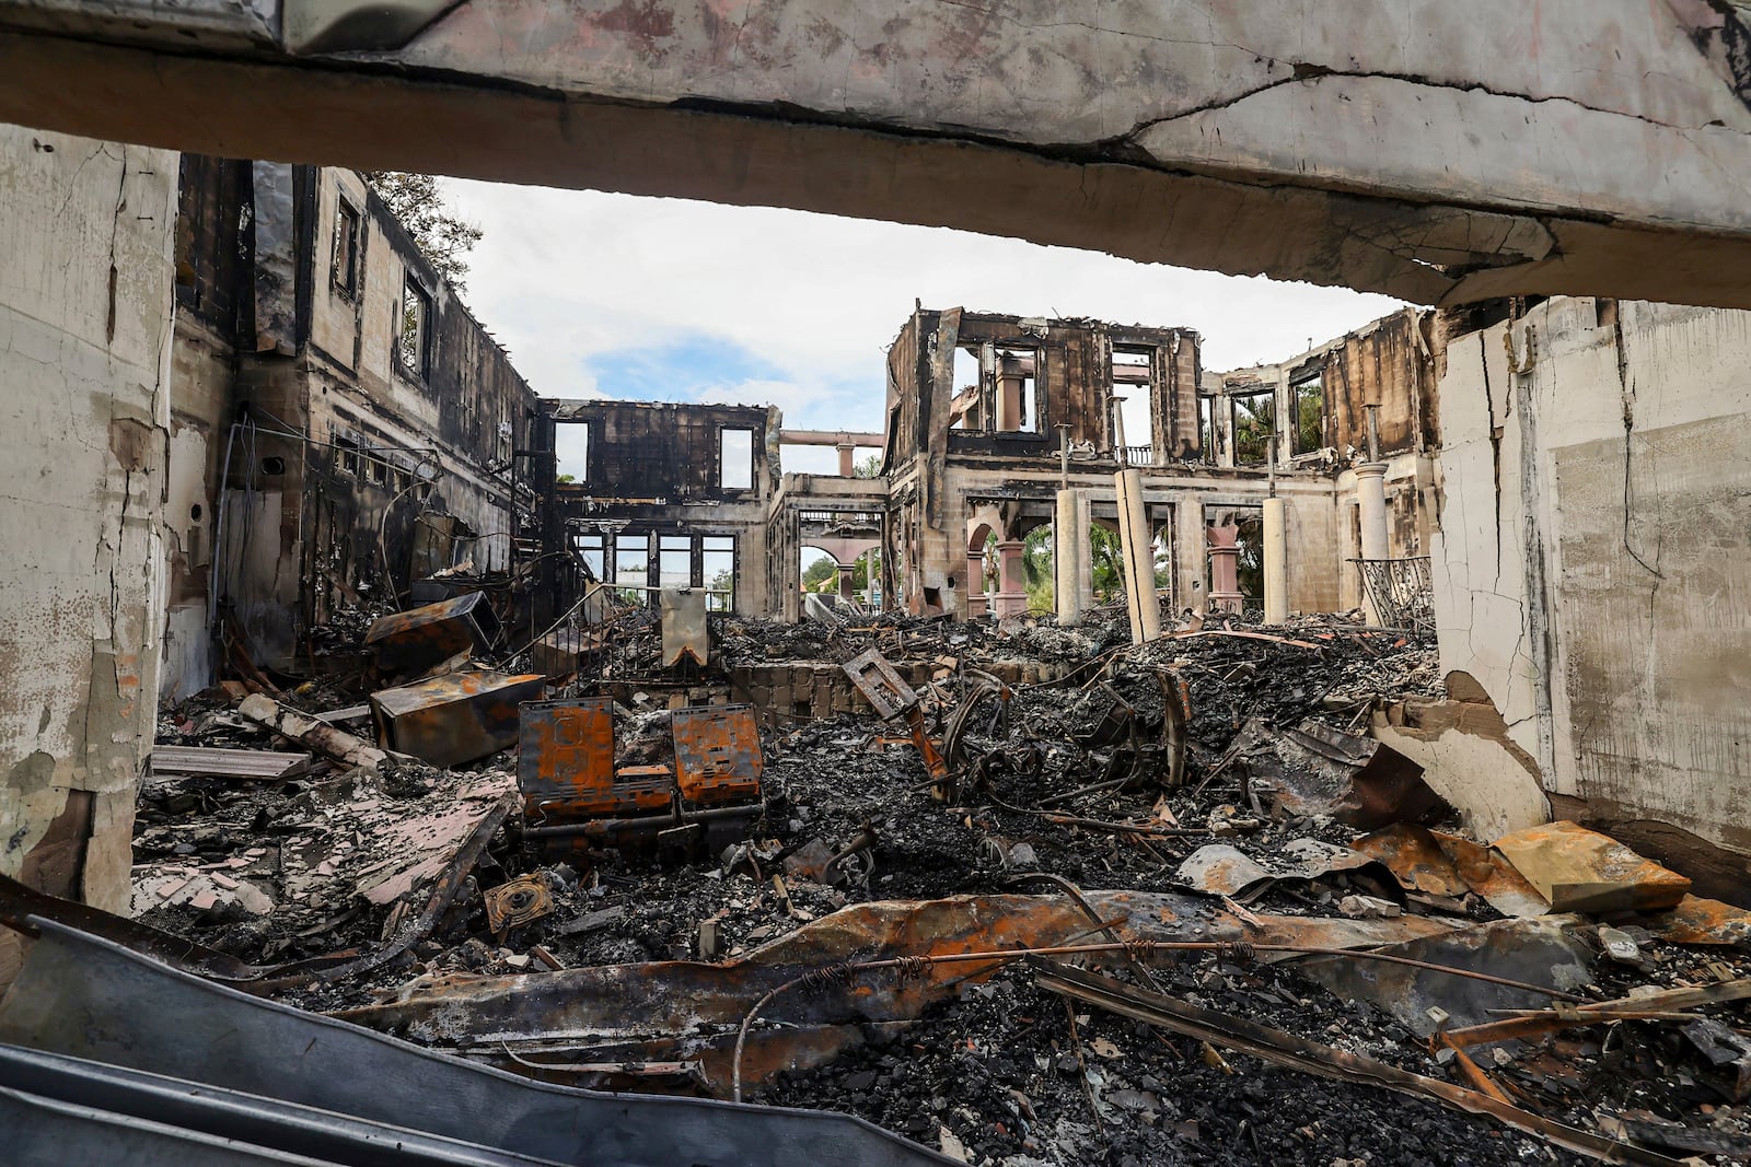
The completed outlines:
[[[1674,908],[1690,880],[1574,822],[1527,828],[1495,840],[1553,912],[1658,912]]]

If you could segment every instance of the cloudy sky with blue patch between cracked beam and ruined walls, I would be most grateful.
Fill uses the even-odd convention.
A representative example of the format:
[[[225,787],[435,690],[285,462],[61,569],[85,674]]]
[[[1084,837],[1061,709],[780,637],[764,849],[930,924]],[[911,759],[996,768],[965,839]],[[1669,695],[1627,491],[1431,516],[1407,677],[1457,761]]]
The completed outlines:
[[[448,180],[485,233],[468,303],[546,397],[776,404],[797,429],[881,430],[884,353],[963,306],[1203,334],[1208,369],[1282,360],[1392,311],[1383,296],[790,210]],[[786,450],[786,471],[832,471]]]

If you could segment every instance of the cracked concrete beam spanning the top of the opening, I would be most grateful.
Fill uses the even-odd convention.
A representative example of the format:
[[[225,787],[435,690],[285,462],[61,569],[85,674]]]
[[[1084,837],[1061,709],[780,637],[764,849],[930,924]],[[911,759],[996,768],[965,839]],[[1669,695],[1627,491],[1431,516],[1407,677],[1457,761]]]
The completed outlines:
[[[1070,12],[464,0],[399,49],[310,58],[275,38],[280,0],[0,0],[0,117],[954,226],[1420,303],[1751,306],[1751,107],[1725,0]]]

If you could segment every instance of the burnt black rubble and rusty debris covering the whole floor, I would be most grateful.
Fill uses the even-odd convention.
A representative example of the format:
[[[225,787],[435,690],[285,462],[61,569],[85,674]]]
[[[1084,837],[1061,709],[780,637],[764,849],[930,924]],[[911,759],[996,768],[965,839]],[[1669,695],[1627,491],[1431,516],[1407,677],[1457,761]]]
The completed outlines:
[[[779,625],[702,598],[594,593],[522,653],[482,591],[350,611],[320,682],[257,672],[166,712],[135,919],[7,880],[39,941],[0,1034],[310,1101],[271,1048],[180,1050],[187,994],[287,1041],[389,1036],[369,1064],[427,1059],[497,1113],[851,1115],[830,1144],[863,1162],[1751,1153],[1751,913],[1574,824],[1467,833],[1368,735],[1443,695],[1431,640],[1229,618],[1133,646],[1122,607]],[[156,1003],[124,1059],[93,1036],[133,983],[107,962]],[[396,1106],[345,1113],[534,1162],[807,1146],[639,1123],[567,1150]]]

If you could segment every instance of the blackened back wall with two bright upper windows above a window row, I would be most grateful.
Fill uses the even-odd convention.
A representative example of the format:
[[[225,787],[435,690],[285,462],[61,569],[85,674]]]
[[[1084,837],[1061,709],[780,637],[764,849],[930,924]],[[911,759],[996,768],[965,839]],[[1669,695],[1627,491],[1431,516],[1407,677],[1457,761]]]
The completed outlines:
[[[557,448],[573,478],[553,486],[553,537],[597,579],[723,588],[728,595],[711,597],[714,609],[767,612],[776,409],[543,401],[539,423],[538,448]]]

